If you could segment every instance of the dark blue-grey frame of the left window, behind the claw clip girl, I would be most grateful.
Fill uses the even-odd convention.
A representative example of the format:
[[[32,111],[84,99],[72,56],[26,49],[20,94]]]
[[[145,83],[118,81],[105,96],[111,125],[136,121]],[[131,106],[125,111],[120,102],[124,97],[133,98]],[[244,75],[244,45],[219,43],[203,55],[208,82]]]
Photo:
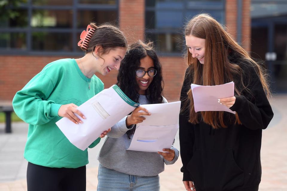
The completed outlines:
[[[32,0],[21,4],[17,9],[28,10],[28,26],[27,27],[1,27],[0,33],[26,33],[26,49],[21,50],[17,48],[1,48],[0,55],[32,55],[32,56],[81,56],[83,52],[79,51],[77,46],[81,33],[86,28],[77,28],[77,14],[80,10],[114,10],[119,16],[119,0],[115,0],[115,5],[109,4],[81,4],[78,0],[72,0],[72,5],[33,5]],[[31,27],[32,11],[33,10],[71,10],[72,13],[72,27],[71,28],[41,28]],[[119,24],[119,20],[117,20]],[[37,51],[32,50],[32,33],[33,32],[48,32],[48,33],[71,33],[72,34],[72,51]]]

